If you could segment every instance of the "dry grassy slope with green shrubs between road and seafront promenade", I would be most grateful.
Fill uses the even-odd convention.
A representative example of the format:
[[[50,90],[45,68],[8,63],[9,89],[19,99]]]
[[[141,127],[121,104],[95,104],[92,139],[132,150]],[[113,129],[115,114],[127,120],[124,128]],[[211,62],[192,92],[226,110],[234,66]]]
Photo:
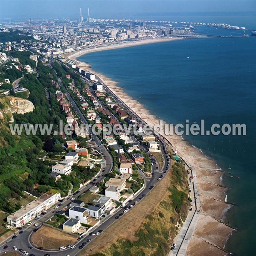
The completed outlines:
[[[157,189],[157,188],[156,188]],[[183,164],[175,163],[171,186],[159,206],[145,218],[135,233],[137,241],[119,239],[102,251],[101,255],[166,255],[177,232],[176,224],[182,224],[188,211],[187,174]]]

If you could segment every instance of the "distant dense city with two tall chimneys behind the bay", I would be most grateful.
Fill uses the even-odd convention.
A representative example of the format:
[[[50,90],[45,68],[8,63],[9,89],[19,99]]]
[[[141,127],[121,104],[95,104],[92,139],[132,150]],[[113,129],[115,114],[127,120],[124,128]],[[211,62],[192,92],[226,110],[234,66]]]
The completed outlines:
[[[226,23],[207,22],[178,22],[160,20],[130,20],[130,19],[97,19],[90,17],[90,9],[87,9],[87,18],[83,16],[80,8],[77,20],[49,19],[28,20],[23,22],[3,22],[0,31],[9,32],[17,29],[28,33],[32,38],[38,40],[34,43],[36,48],[44,49],[44,61],[49,58],[51,51],[53,56],[75,50],[97,47],[119,41],[142,40],[145,38],[201,38],[209,35],[197,33],[199,26],[212,26],[220,29],[244,30],[246,27],[233,26]],[[252,35],[254,32],[252,32]],[[244,33],[245,35],[245,33]],[[217,36],[217,35],[215,35]],[[247,36],[247,35],[245,35]],[[17,42],[1,43],[4,50],[22,50],[22,44]],[[39,49],[37,49],[39,51]]]

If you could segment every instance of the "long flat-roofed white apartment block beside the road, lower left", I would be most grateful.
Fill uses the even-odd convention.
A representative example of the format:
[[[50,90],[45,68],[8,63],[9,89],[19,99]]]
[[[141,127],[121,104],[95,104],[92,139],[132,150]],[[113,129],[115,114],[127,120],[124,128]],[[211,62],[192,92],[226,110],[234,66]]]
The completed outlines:
[[[7,217],[7,222],[12,226],[22,227],[34,219],[37,215],[40,215],[41,212],[58,203],[58,199],[60,198],[61,193],[52,194],[51,192],[46,192],[23,208],[20,208],[16,212],[9,215]]]

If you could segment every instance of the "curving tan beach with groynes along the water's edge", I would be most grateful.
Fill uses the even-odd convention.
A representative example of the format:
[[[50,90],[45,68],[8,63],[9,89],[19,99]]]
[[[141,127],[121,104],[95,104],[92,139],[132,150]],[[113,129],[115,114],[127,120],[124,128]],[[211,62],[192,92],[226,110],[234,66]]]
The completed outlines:
[[[123,42],[103,47],[83,49],[81,51],[67,53],[64,56],[65,58],[75,60],[78,67],[99,76],[116,96],[137,113],[140,118],[153,126],[155,123],[159,123],[159,119],[155,115],[151,114],[139,101],[125,93],[121,87],[118,87],[117,82],[92,70],[89,64],[79,61],[78,57],[89,52],[173,40],[180,40],[180,38],[166,38],[163,40],[146,39],[141,41]],[[196,249],[198,247],[200,247],[200,252],[207,251],[209,253],[214,253],[214,255],[226,255],[227,253],[224,253],[224,251],[220,249],[216,249],[216,246],[214,246],[217,245],[220,248],[224,248],[233,231],[231,227],[220,222],[224,221],[224,214],[230,208],[230,205],[224,202],[227,195],[227,188],[221,185],[221,176],[223,175],[223,172],[218,168],[214,160],[204,155],[200,148],[196,148],[191,143],[183,140],[181,136],[175,134],[164,137],[172,144],[173,150],[176,150],[178,155],[180,155],[193,169],[193,175],[196,176],[197,180],[198,193],[200,194],[200,199],[199,196],[198,199],[201,202],[202,212],[199,215],[192,237],[189,240],[189,245],[186,248],[186,255],[201,255],[200,253],[198,254],[198,250]],[[209,244],[208,242],[214,245]]]

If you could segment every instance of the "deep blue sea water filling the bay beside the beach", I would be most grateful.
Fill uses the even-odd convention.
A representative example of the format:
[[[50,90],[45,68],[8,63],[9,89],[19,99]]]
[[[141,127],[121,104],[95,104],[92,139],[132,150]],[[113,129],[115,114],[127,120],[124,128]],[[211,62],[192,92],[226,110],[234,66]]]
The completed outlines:
[[[212,28],[204,28],[212,29]],[[207,30],[208,31],[208,30]],[[212,32],[211,30],[210,32]],[[189,57],[189,58],[186,58]],[[93,52],[80,57],[169,123],[245,123],[246,136],[187,136],[226,172],[238,227],[226,249],[253,255],[256,241],[256,38],[189,39]],[[228,169],[231,168],[231,169]],[[235,176],[241,177],[241,179]]]

